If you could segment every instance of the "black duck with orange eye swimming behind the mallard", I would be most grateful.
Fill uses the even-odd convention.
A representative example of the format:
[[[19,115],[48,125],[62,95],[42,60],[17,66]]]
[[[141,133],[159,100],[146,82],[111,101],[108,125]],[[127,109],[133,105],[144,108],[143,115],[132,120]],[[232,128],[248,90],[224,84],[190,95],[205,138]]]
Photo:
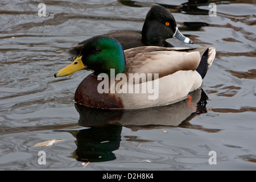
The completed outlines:
[[[174,47],[166,42],[166,39],[170,38],[175,38],[185,43],[193,43],[191,39],[181,34],[170,11],[160,5],[152,6],[148,11],[142,33],[135,31],[112,31],[105,35],[116,39],[124,50],[141,46]],[[69,49],[69,53],[76,56],[79,55],[85,42],[86,40]]]

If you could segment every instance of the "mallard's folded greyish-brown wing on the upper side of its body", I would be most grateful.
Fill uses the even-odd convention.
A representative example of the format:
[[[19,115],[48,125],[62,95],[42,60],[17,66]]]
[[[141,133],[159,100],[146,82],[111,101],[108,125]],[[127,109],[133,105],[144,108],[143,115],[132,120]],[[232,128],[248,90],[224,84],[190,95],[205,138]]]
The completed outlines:
[[[146,52],[139,49],[137,54],[136,48],[125,51],[127,65],[124,73],[158,73],[159,77],[163,77],[181,70],[194,71],[198,67],[201,60],[199,51],[184,52],[171,49],[146,47]]]

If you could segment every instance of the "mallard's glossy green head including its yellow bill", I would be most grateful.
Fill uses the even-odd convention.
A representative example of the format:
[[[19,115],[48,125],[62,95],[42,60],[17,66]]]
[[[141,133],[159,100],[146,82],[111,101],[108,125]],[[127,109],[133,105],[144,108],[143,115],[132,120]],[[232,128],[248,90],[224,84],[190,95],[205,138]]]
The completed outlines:
[[[54,76],[71,75],[81,69],[92,69],[95,75],[106,73],[110,76],[110,69],[115,69],[117,75],[125,68],[125,54],[121,44],[108,35],[99,35],[86,40],[76,60]]]

